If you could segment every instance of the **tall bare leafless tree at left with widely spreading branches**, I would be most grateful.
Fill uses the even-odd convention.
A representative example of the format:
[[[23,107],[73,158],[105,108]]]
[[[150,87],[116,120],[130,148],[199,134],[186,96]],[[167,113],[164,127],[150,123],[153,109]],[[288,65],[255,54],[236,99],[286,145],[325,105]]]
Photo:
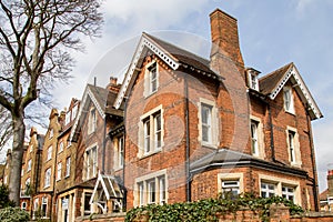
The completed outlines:
[[[98,37],[100,0],[0,0],[0,104],[11,114],[10,199],[20,201],[26,108],[56,80],[70,77],[70,50]]]

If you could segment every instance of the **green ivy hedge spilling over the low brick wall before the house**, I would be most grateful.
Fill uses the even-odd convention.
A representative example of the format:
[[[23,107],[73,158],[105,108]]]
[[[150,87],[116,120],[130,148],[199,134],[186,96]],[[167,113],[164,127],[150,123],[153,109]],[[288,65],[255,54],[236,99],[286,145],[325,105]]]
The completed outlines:
[[[195,202],[174,203],[165,205],[147,205],[134,208],[127,213],[125,221],[137,221],[147,216],[149,221],[219,221],[218,215],[236,213],[241,209],[250,209],[260,213],[263,221],[269,219],[269,209],[273,203],[283,203],[290,208],[291,215],[300,214],[303,209],[293,202],[281,198],[260,198],[251,193],[239,196],[232,194],[219,195],[216,199],[205,199]]]

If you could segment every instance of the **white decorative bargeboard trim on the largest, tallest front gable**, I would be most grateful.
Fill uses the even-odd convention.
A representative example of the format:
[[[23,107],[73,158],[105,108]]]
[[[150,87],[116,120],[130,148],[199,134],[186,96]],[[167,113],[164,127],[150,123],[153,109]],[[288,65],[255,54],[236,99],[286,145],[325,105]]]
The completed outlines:
[[[176,70],[179,68],[180,63],[179,63],[178,59],[175,59],[172,54],[170,54],[167,50],[164,50],[158,43],[155,43],[145,33],[142,33],[140,42],[137,47],[137,50],[135,50],[132,61],[130,63],[130,67],[125,73],[124,81],[123,81],[123,83],[120,88],[120,91],[118,93],[118,97],[114,101],[113,107],[115,109],[120,108],[130,84],[133,83],[133,79],[134,79],[133,75],[135,72],[138,72],[138,64],[140,64],[140,62],[142,62],[143,53],[145,52],[147,49],[149,49],[153,53],[155,53],[161,60],[163,60],[167,64],[169,64],[171,69]]]

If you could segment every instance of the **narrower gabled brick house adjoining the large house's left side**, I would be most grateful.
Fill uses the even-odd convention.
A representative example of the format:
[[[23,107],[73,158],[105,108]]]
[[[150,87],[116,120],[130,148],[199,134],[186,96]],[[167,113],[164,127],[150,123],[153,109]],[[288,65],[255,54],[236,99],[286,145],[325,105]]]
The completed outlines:
[[[67,189],[67,192],[74,193],[71,202],[73,218],[102,213],[105,208],[93,194],[98,176],[111,175],[113,170],[113,153],[107,132],[122,122],[123,112],[108,104],[113,104],[119,88],[117,79],[111,78],[107,88],[88,84],[84,90],[69,135],[69,141],[77,147],[74,185]]]

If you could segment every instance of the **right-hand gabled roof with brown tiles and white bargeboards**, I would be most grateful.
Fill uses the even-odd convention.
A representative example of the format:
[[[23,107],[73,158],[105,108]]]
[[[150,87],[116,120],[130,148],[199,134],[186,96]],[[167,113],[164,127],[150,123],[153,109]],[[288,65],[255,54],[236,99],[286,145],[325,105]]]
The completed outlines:
[[[304,83],[299,70],[292,62],[259,79],[260,92],[271,100],[274,100],[287,81],[293,83],[293,88],[306,109],[309,109],[311,119],[315,120],[322,118],[322,112]]]

